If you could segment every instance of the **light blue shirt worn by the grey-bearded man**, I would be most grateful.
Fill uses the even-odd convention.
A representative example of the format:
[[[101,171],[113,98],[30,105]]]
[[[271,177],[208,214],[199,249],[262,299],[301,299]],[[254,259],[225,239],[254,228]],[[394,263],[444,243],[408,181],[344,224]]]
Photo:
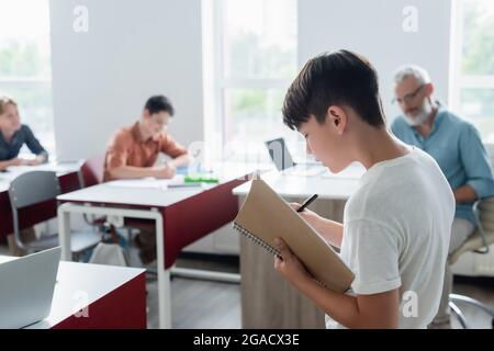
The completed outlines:
[[[429,154],[439,165],[452,190],[470,185],[479,199],[494,195],[492,168],[476,128],[439,106],[433,128],[423,137],[403,116],[392,124],[393,134]],[[457,204],[456,217],[476,226],[473,203]]]

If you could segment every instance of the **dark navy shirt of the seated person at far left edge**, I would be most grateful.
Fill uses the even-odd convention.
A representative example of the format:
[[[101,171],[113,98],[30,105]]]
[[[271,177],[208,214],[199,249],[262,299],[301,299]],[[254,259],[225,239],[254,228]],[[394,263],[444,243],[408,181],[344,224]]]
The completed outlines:
[[[21,128],[14,133],[12,140],[7,141],[3,138],[3,134],[0,132],[0,161],[7,161],[19,156],[19,151],[23,145],[27,145],[31,152],[35,155],[46,155],[48,152],[43,148],[40,141],[34,136],[29,126],[23,124]]]

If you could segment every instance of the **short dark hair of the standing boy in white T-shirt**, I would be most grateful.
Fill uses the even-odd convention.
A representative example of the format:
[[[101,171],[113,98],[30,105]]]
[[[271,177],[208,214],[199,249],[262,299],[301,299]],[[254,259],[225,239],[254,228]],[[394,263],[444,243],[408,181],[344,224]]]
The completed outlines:
[[[283,122],[294,129],[314,115],[322,124],[335,104],[350,106],[372,126],[385,124],[378,72],[367,58],[338,50],[308,60],[287,92]]]

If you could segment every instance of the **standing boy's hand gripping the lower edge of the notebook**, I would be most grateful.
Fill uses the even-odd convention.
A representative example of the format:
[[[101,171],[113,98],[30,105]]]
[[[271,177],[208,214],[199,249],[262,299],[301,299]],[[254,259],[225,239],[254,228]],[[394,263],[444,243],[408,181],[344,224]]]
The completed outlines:
[[[304,280],[312,279],[311,274],[300,262],[299,258],[292,253],[287,244],[280,239],[274,239],[274,245],[281,257],[274,257],[274,269],[287,278],[294,285]]]

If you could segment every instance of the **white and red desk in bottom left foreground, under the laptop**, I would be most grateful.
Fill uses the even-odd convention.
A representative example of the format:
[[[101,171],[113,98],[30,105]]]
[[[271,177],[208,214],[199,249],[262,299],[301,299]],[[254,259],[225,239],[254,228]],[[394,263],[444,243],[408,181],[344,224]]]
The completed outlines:
[[[0,263],[14,259],[0,256]],[[60,261],[52,310],[27,327],[52,328],[146,328],[145,270]]]

